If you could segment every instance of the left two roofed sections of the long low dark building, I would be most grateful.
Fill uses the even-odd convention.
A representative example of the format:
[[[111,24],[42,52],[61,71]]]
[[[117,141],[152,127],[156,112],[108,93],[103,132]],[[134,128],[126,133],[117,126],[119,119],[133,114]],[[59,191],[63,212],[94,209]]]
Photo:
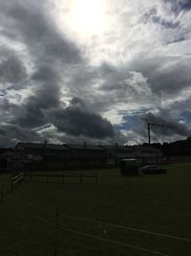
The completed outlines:
[[[106,151],[98,146],[80,144],[18,143],[14,149],[18,170],[71,170],[106,167]]]

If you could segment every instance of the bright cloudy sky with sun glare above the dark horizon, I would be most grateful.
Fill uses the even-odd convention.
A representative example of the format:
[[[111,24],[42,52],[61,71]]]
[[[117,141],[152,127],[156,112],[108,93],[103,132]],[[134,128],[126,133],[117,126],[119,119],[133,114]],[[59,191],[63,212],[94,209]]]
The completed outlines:
[[[0,0],[0,146],[191,136],[189,0]]]

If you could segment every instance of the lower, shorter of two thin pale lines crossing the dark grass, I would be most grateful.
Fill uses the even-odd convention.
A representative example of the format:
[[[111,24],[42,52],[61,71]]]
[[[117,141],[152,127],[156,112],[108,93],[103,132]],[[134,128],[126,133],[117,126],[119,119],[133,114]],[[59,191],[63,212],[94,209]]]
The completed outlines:
[[[117,244],[117,245],[120,245],[120,246],[123,246],[123,247],[128,247],[128,248],[131,248],[131,249],[135,249],[135,250],[138,250],[138,251],[143,251],[143,252],[147,252],[147,253],[151,253],[151,254],[155,254],[155,255],[160,255],[160,256],[169,256],[168,254],[164,254],[164,253],[161,253],[159,251],[150,250],[150,249],[146,249],[146,248],[143,248],[143,247],[138,247],[138,246],[131,245],[131,244],[123,244],[123,243],[117,242],[116,240],[110,240],[110,239],[97,237],[97,236],[90,235],[90,234],[87,234],[87,233],[84,233],[84,232],[75,231],[74,229],[65,228],[63,226],[61,226],[60,229],[64,230],[64,231],[74,233],[76,235],[83,236],[83,237],[88,237],[88,238],[100,240],[102,242],[106,242],[106,243],[110,243],[110,244]]]

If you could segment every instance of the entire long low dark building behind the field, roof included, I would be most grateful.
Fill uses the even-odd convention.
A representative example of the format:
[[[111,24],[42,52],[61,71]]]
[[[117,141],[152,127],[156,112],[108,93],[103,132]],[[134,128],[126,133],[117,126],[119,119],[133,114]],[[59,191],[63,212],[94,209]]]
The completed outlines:
[[[118,167],[121,159],[137,158],[139,165],[159,163],[159,150],[141,146],[18,143],[14,170],[76,170]]]

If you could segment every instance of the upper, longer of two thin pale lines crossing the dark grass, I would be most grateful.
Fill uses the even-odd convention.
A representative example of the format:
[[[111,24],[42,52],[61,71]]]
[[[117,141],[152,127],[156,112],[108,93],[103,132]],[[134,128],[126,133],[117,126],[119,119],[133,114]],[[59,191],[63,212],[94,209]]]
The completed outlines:
[[[35,207],[37,209],[49,212],[48,209],[45,209],[45,208],[42,208],[40,206],[34,205],[31,202],[27,202],[27,201],[22,200],[20,198],[15,198],[15,199],[18,199],[18,200],[20,200],[20,201],[22,201],[22,202],[24,202],[28,205],[31,205],[32,207]],[[171,235],[167,235],[167,234],[163,234],[163,233],[152,232],[152,231],[148,231],[148,230],[144,230],[144,229],[138,229],[138,228],[129,227],[129,226],[125,226],[125,225],[119,225],[119,224],[114,224],[114,223],[109,223],[109,222],[104,222],[104,221],[96,221],[96,220],[92,220],[92,219],[85,219],[85,218],[82,218],[82,217],[75,217],[75,216],[66,215],[66,214],[60,214],[60,216],[70,218],[70,219],[75,219],[75,220],[81,220],[81,221],[94,222],[94,223],[98,223],[98,224],[104,224],[104,225],[108,225],[108,226],[111,226],[111,227],[121,228],[121,229],[124,229],[124,230],[132,230],[132,231],[136,231],[136,232],[144,233],[144,234],[148,234],[148,235],[154,235],[154,236],[159,236],[159,237],[164,237],[164,238],[169,238],[169,239],[179,240],[179,241],[182,241],[182,242],[191,243],[191,239],[177,237],[177,236],[171,236]]]

